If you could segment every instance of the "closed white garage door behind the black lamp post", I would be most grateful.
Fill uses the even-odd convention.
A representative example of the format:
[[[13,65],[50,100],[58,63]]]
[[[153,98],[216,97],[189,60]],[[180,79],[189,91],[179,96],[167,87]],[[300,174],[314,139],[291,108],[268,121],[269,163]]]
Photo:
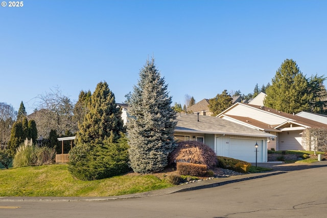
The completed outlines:
[[[231,158],[255,163],[255,143],[258,143],[258,162],[263,162],[262,159],[262,140],[253,139],[230,139],[229,155]]]

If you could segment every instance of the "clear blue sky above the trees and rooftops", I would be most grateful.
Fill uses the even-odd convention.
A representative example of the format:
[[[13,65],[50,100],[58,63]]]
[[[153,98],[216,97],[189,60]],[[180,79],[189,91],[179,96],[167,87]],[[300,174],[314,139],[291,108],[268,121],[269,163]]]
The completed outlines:
[[[73,101],[106,81],[116,102],[154,56],[173,102],[252,93],[285,59],[327,75],[327,1],[23,1],[0,7],[0,102],[31,113],[59,87]]]

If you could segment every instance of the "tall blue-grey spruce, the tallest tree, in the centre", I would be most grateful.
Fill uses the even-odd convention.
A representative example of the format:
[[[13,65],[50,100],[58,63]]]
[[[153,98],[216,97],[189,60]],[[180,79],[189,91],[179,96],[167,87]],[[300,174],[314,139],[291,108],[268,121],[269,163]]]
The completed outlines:
[[[173,137],[176,112],[167,88],[154,59],[148,60],[139,73],[128,111],[130,165],[135,172],[164,169],[169,153],[176,147]]]

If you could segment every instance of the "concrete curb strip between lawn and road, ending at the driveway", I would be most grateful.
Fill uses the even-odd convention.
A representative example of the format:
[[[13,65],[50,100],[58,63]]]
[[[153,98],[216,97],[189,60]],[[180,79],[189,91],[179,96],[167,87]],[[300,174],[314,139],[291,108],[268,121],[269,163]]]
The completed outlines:
[[[207,181],[201,181],[201,182],[209,183],[209,184],[201,185],[201,184],[199,184],[201,182],[197,182],[197,183],[179,185],[179,186],[166,188],[166,189],[134,193],[134,194],[127,194],[127,195],[120,195],[120,196],[113,196],[113,197],[98,197],[98,198],[89,198],[89,197],[0,197],[0,202],[114,201],[114,200],[124,200],[124,199],[145,198],[145,197],[151,197],[151,196],[157,196],[157,195],[172,194],[172,193],[177,193],[177,192],[200,190],[200,189],[204,189],[204,188],[213,188],[213,187],[217,187],[217,186],[227,185],[227,184],[236,183],[236,182],[242,182],[242,181],[246,181],[246,180],[253,180],[253,179],[259,179],[259,178],[264,178],[264,177],[269,177],[269,176],[275,176],[275,175],[279,175],[282,173],[286,173],[286,171],[269,172],[269,173],[263,173],[263,174],[256,175],[256,176],[255,176],[255,173],[253,173],[254,174],[253,176],[243,177],[243,178],[239,178],[239,179],[228,178],[225,181],[217,181],[217,182],[215,182],[214,180],[209,180],[209,181],[207,180]],[[188,186],[188,187],[184,187],[184,186]]]

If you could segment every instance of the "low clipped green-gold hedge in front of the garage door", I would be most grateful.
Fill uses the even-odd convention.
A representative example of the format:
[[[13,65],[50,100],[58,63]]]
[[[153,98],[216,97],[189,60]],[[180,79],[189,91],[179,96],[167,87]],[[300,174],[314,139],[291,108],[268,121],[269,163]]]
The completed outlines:
[[[242,173],[248,172],[251,167],[250,163],[242,160],[233,159],[233,158],[217,156],[217,160],[218,160],[218,164],[217,164],[218,167],[224,169],[231,169],[237,172],[242,172]]]

